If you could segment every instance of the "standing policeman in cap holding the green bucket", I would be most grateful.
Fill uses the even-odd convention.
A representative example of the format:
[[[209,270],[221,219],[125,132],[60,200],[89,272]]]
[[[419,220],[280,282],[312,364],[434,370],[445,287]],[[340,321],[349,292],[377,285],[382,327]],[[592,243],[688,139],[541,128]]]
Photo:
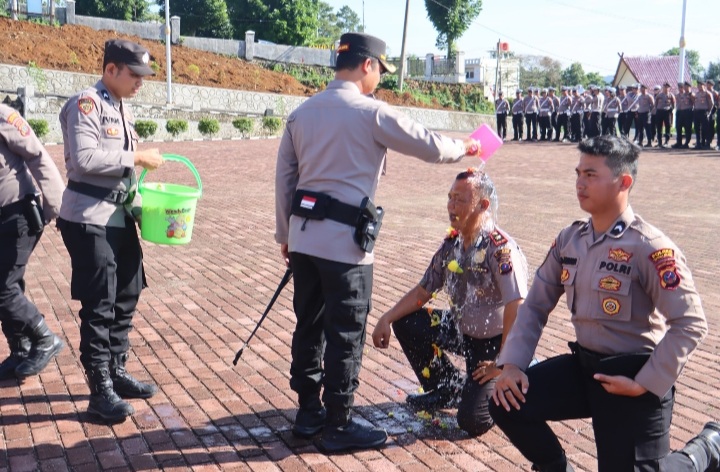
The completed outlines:
[[[99,82],[60,111],[68,188],[58,228],[72,260],[72,298],[80,300],[80,361],[90,385],[88,412],[110,422],[134,413],[122,398],[149,398],[157,387],[126,370],[132,318],[144,287],[135,166],[156,169],[157,149],[137,150],[128,104],[150,55],[126,40],[105,43]]]

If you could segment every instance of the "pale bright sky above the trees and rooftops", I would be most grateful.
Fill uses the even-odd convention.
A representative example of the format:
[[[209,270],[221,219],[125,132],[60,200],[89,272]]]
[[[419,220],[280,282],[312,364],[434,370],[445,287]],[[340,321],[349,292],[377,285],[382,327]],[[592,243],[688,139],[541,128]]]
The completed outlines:
[[[405,0],[324,0],[336,11],[348,5],[366,32],[400,56]],[[437,32],[425,10],[426,0],[409,0],[406,54],[444,55],[435,47]],[[430,0],[431,1],[431,0]],[[550,56],[563,68],[580,62],[585,72],[614,75],[619,53],[659,55],[677,47],[683,0],[483,0],[483,9],[458,41],[465,58],[480,58],[498,39],[517,54]],[[687,49],[697,50],[701,65],[720,62],[720,0],[687,0]]]

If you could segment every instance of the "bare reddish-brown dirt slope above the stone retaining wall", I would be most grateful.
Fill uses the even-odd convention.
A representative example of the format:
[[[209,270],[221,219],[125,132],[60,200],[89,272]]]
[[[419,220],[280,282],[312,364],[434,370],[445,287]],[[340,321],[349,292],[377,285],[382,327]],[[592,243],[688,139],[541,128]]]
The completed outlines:
[[[165,80],[165,45],[161,42],[79,25],[55,27],[0,18],[0,63],[27,65],[33,62],[43,69],[99,74],[103,46],[111,38],[130,39],[145,46],[159,66],[153,79]],[[183,46],[172,47],[172,62],[173,81],[182,84],[301,96],[318,91],[290,75]],[[397,105],[421,106],[408,94],[400,97],[383,90],[380,98]]]

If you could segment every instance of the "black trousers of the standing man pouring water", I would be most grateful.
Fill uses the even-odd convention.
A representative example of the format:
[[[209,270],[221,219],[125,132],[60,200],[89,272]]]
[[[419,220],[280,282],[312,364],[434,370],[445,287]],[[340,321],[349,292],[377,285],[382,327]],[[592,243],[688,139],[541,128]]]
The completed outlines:
[[[304,398],[324,387],[325,405],[353,406],[362,364],[373,266],[290,253],[295,280],[290,387]]]

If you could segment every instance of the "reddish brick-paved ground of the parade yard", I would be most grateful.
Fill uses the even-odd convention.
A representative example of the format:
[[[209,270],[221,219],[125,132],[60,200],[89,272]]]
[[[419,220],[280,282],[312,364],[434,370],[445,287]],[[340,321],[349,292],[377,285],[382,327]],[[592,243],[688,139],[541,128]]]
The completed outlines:
[[[68,347],[22,385],[0,383],[0,471],[91,470],[529,470],[502,434],[468,439],[455,428],[403,408],[416,380],[395,340],[389,350],[366,346],[356,412],[387,428],[386,448],[326,457],[289,432],[295,398],[288,386],[292,284],[237,367],[235,351],[260,317],[284,271],[273,242],[273,171],[278,141],[162,145],[190,157],[203,177],[192,244],[145,244],[150,288],[143,293],[129,370],[160,392],[133,400],[137,413],[114,426],[85,414],[88,388],[78,361],[78,303],[70,300],[69,259],[58,233],[46,231],[30,263],[28,292]],[[62,149],[50,148],[60,162]],[[340,156],[338,156],[340,158]],[[508,144],[489,165],[500,194],[501,226],[541,263],[556,233],[582,216],[574,197],[577,153],[571,145]],[[447,227],[445,195],[472,162],[432,166],[391,153],[377,201],[387,210],[377,249],[377,317],[419,280]],[[178,164],[155,180],[190,181]],[[172,174],[177,174],[172,176]],[[672,444],[679,446],[708,418],[718,418],[716,390],[720,318],[718,153],[649,151],[641,158],[634,208],[683,248],[703,296],[710,335],[677,384]],[[564,302],[538,355],[566,351],[573,338]],[[2,343],[0,355],[7,355]],[[572,462],[595,470],[587,421],[557,424]]]

